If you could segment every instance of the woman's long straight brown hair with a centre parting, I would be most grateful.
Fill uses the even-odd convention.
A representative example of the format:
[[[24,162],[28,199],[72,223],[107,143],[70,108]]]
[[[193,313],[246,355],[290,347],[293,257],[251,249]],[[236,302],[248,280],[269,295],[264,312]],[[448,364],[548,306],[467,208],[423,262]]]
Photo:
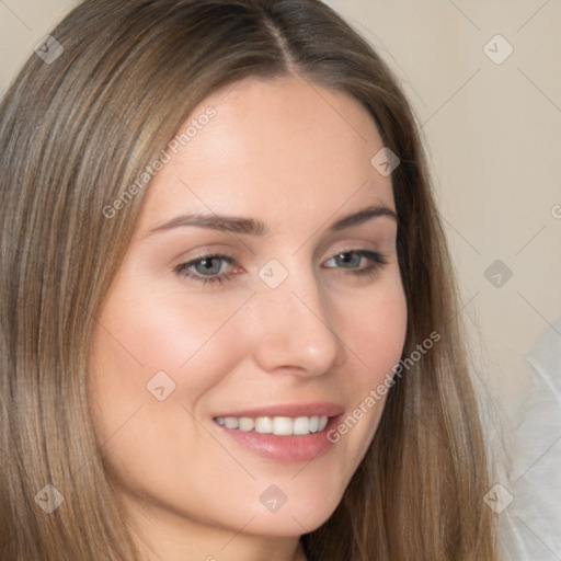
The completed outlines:
[[[396,377],[340,505],[301,538],[308,559],[495,560],[445,236],[416,121],[373,47],[319,0],[85,0],[51,36],[0,106],[1,559],[140,559],[94,437],[85,369],[147,187],[106,209],[205,96],[291,73],[360,102],[398,154],[403,358],[440,335]],[[55,489],[64,502],[48,514],[39,503],[60,500]]]

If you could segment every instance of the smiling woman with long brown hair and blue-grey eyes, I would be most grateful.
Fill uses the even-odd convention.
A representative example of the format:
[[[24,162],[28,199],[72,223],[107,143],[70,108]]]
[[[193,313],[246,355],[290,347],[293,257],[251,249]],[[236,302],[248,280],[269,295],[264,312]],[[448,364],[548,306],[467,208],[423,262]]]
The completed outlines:
[[[414,117],[314,0],[87,0],[0,110],[2,559],[496,559]]]

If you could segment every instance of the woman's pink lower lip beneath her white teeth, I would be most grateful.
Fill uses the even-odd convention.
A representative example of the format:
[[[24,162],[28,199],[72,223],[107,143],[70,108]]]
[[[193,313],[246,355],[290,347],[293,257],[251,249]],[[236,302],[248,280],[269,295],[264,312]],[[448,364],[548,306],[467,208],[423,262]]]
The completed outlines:
[[[319,433],[301,436],[261,434],[255,433],[255,431],[244,432],[219,425],[216,421],[213,421],[213,423],[230,438],[259,456],[276,461],[297,462],[310,461],[331,448],[333,443],[328,439],[328,431],[336,426],[341,417],[342,415],[337,415],[329,419],[325,428]]]

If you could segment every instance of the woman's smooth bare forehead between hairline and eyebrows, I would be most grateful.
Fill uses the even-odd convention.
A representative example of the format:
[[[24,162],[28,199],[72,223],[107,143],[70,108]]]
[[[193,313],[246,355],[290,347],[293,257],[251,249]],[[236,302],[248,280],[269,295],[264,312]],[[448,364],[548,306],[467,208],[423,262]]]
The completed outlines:
[[[298,220],[346,203],[393,207],[390,178],[370,162],[383,146],[374,119],[311,81],[244,79],[206,98],[178,134],[148,186],[141,228],[180,210]]]

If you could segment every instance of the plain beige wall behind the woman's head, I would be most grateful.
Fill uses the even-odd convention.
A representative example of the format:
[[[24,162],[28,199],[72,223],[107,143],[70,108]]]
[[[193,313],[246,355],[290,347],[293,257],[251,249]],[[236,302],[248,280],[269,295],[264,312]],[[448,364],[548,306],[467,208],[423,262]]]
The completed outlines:
[[[524,354],[561,316],[561,1],[328,3],[378,48],[415,107],[474,357],[512,416],[529,388]],[[0,0],[0,92],[76,4]],[[514,49],[502,64],[484,51],[497,34]],[[484,276],[497,259],[513,272],[500,288]]]

